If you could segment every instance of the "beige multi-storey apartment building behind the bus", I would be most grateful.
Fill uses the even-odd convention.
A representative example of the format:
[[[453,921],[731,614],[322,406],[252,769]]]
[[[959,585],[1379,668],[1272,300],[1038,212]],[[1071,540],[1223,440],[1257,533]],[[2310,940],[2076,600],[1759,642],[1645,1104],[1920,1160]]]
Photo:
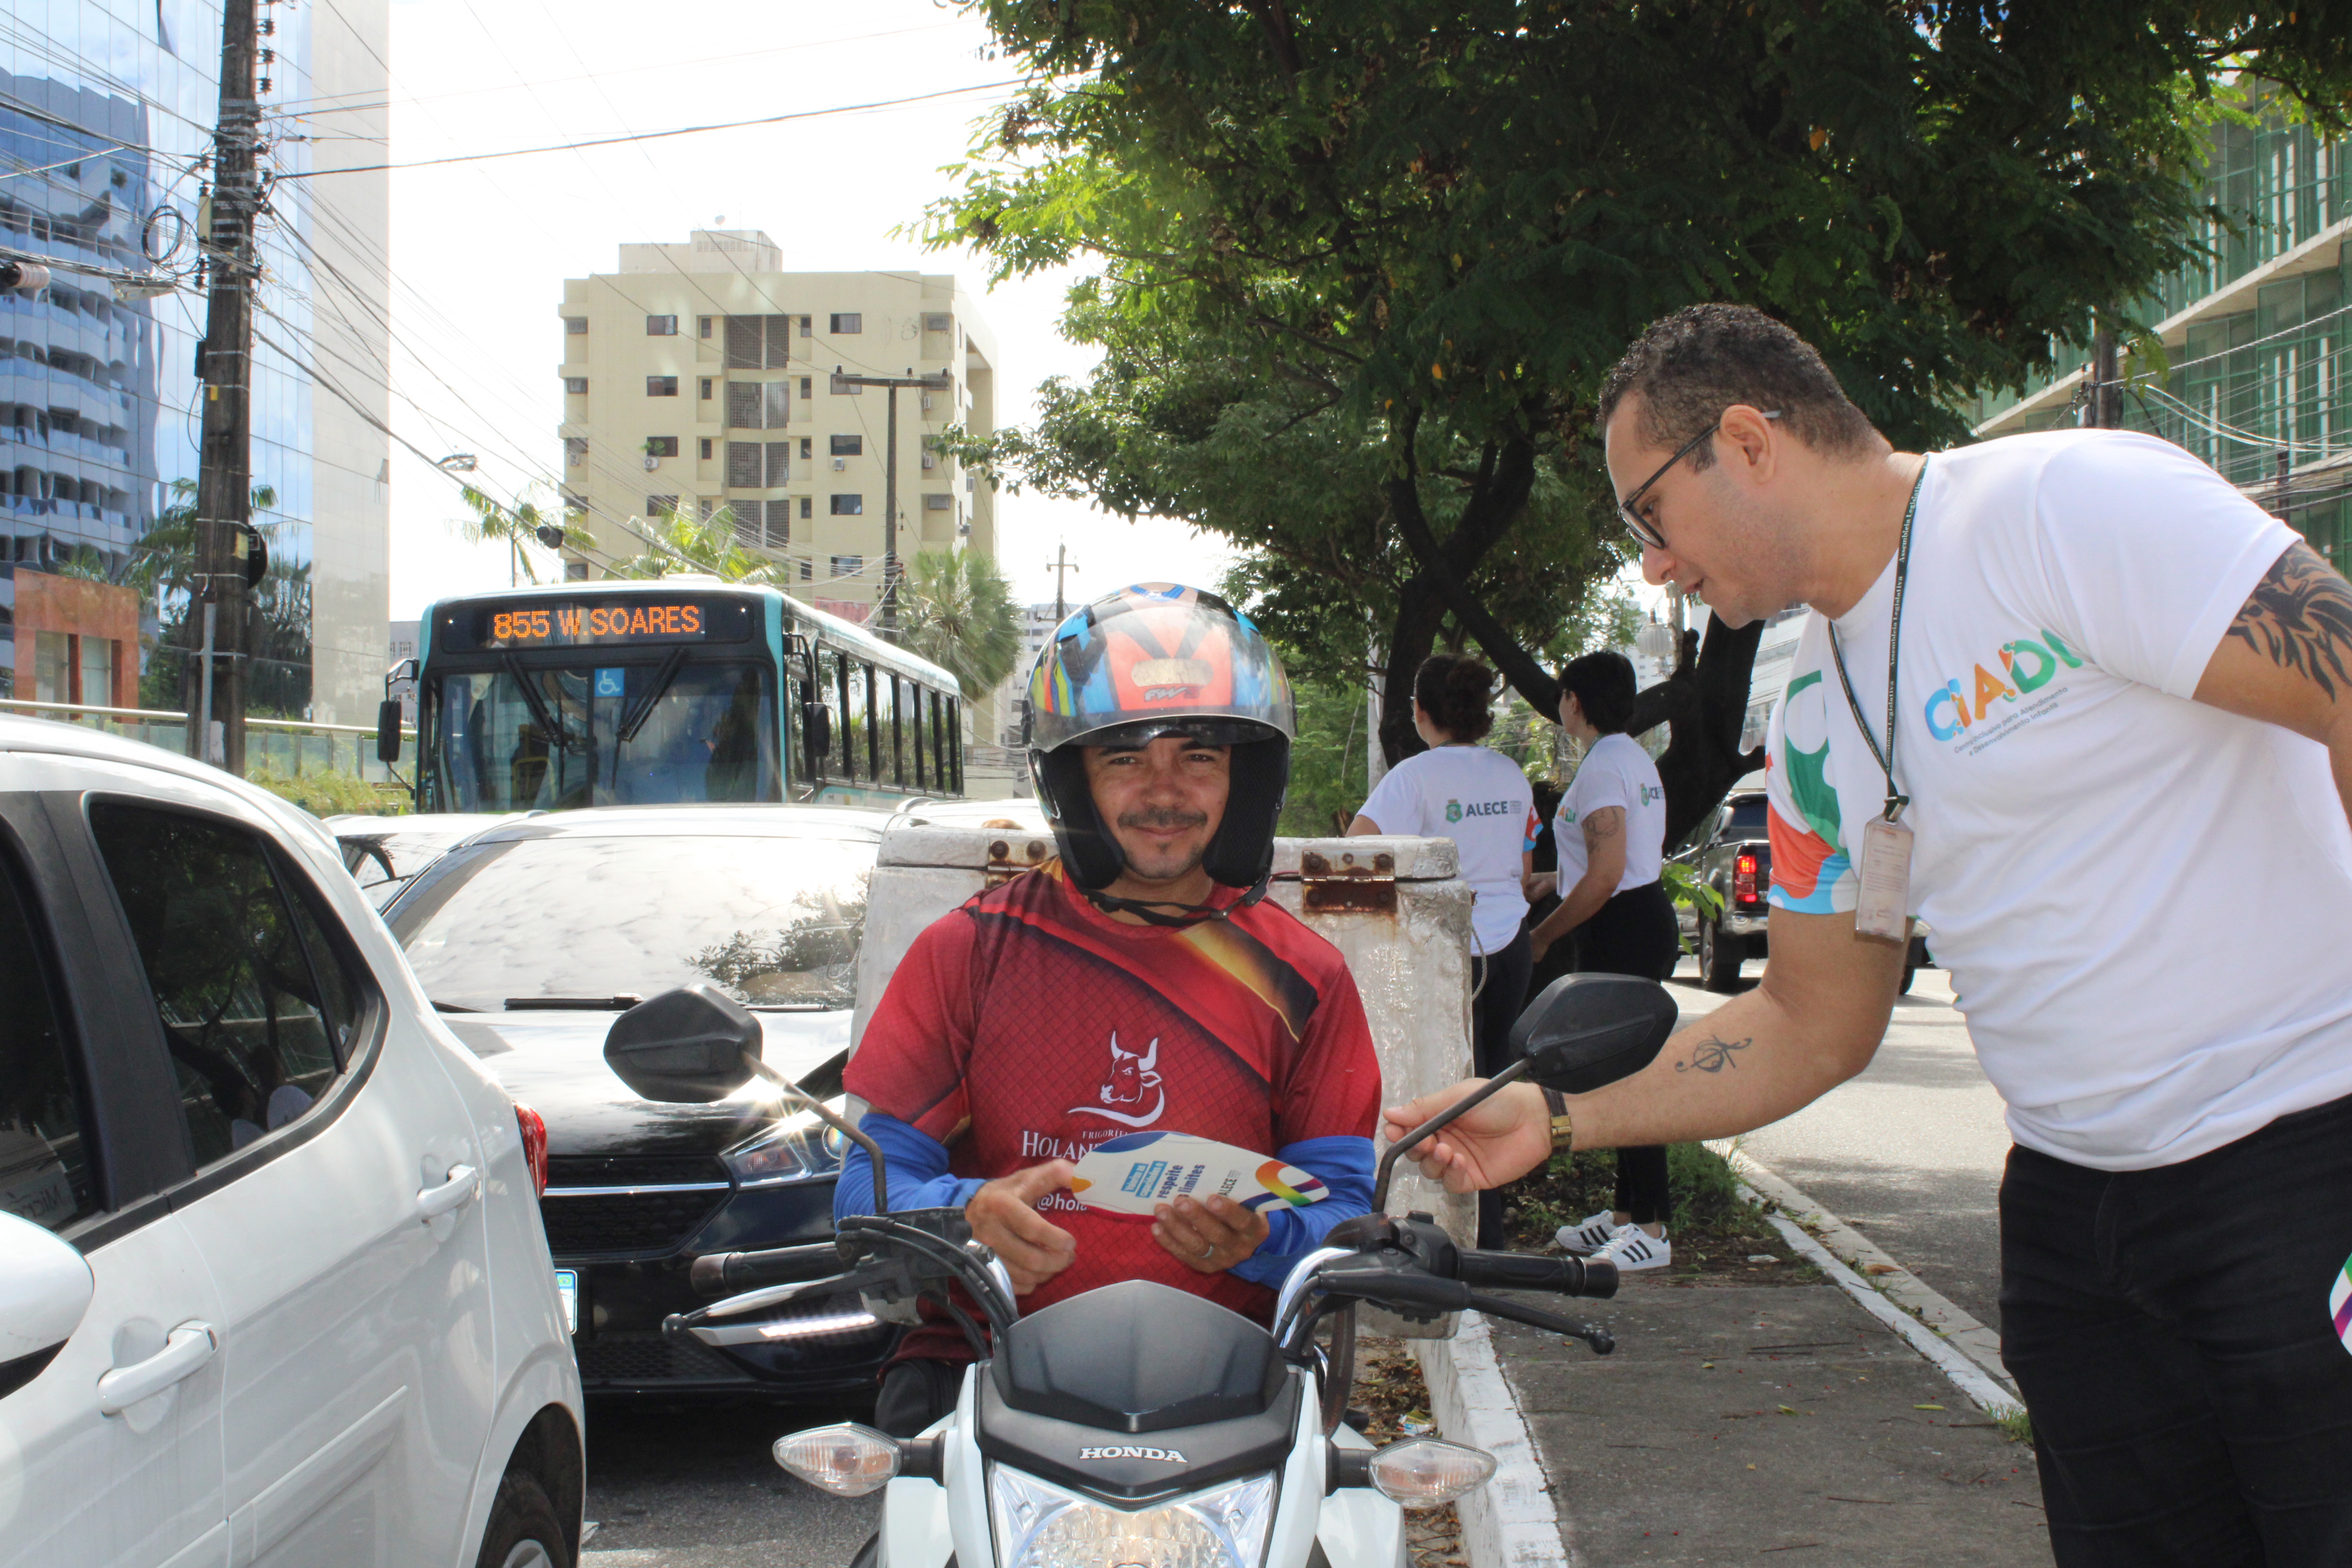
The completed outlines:
[[[936,273],[786,273],[760,230],[623,244],[614,273],[564,280],[564,503],[593,536],[572,578],[644,552],[644,520],[731,512],[788,562],[788,588],[863,621],[882,592],[889,407],[842,376],[941,376],[896,393],[898,559],[995,555],[995,496],[936,449],[995,428],[997,346]]]

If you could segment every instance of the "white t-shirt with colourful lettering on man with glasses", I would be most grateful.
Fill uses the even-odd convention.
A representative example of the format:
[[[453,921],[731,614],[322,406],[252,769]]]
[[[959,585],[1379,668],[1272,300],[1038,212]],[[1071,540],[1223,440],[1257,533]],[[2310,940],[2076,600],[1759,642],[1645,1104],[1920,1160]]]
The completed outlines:
[[[2194,1159],[2352,1093],[2352,830],[2326,748],[2190,701],[2293,534],[2171,442],[1933,456],[1912,529],[1896,783],[1912,912],[2030,1150]],[[1837,623],[1886,724],[1893,559]],[[1806,618],[1766,741],[1771,903],[1853,907],[1886,778]]]

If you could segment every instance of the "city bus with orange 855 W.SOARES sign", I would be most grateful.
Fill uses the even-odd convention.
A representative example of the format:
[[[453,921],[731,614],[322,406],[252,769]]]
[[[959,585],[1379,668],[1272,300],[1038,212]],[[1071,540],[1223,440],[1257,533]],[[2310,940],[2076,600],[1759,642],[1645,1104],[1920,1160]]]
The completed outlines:
[[[955,677],[774,588],[666,576],[440,599],[402,677],[419,811],[964,792]],[[386,719],[379,755],[397,757],[393,705]]]

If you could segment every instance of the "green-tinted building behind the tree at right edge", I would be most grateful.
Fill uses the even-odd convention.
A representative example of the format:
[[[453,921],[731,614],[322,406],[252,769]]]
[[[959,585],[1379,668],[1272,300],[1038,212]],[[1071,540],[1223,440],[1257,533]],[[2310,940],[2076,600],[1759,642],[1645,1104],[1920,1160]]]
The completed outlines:
[[[2279,106],[2213,129],[2204,256],[2131,315],[2161,341],[2122,364],[2122,425],[2187,447],[2314,550],[2352,567],[2352,143]],[[2089,336],[2089,334],[2086,334]],[[2086,355],[1969,404],[1980,437],[2084,423]]]

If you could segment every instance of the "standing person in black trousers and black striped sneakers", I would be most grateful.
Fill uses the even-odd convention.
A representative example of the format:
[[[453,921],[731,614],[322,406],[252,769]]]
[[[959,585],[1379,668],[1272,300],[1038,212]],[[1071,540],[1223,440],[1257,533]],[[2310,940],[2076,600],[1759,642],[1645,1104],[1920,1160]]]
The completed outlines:
[[[1665,785],[1658,764],[1625,733],[1635,675],[1623,654],[1585,654],[1559,670],[1559,726],[1585,759],[1552,818],[1559,872],[1531,875],[1529,893],[1552,891],[1559,907],[1536,926],[1531,957],[1552,943],[1576,945],[1578,973],[1665,980],[1682,957],[1675,903],[1658,882],[1665,863]],[[1618,1150],[1616,1206],[1559,1227],[1559,1246],[1618,1269],[1661,1269],[1675,1260],[1665,1234],[1665,1145]]]

